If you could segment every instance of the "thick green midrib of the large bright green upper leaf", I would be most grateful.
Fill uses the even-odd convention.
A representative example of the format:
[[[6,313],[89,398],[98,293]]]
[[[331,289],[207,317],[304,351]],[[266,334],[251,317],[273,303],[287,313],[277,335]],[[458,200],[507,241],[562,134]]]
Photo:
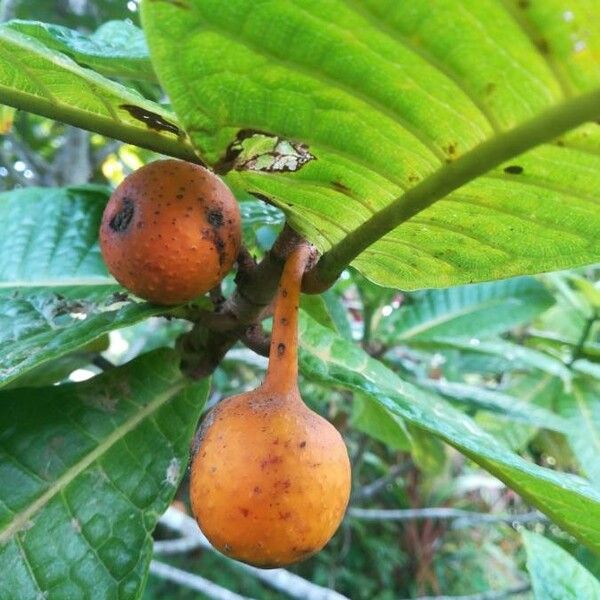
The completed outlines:
[[[553,106],[444,165],[323,254],[314,273],[317,284],[322,287],[333,283],[342,270],[371,244],[450,192],[510,158],[599,116],[600,89],[597,89]]]

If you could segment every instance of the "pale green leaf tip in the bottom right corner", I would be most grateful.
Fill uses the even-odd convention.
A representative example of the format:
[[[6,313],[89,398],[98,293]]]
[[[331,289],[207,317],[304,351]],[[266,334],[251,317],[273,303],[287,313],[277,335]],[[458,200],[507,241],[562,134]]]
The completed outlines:
[[[571,554],[537,533],[522,536],[536,600],[600,599],[600,582]]]

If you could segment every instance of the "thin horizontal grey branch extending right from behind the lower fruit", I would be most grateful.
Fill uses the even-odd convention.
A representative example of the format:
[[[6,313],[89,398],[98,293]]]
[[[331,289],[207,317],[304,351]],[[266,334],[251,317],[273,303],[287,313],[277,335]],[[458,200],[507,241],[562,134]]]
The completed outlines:
[[[416,521],[422,519],[456,520],[454,529],[479,523],[543,523],[548,518],[531,511],[518,515],[478,513],[458,508],[407,508],[388,510],[378,508],[349,508],[348,516],[364,521]]]

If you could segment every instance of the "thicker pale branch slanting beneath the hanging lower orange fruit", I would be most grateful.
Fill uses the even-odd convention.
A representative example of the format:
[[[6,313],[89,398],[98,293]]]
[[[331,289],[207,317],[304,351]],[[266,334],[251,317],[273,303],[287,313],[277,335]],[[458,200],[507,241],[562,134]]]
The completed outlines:
[[[195,546],[196,548],[201,547],[217,552],[217,550],[210,545],[210,542],[202,534],[200,529],[198,529],[198,524],[195,519],[181,511],[169,507],[165,514],[160,518],[159,523],[173,531],[179,532],[184,539],[195,540],[197,543],[197,546]],[[240,570],[250,573],[268,586],[285,593],[291,598],[297,598],[298,600],[348,600],[346,596],[339,594],[335,590],[330,590],[311,583],[285,569],[257,569],[256,567],[238,563],[225,556],[223,556],[223,560],[228,561]]]

